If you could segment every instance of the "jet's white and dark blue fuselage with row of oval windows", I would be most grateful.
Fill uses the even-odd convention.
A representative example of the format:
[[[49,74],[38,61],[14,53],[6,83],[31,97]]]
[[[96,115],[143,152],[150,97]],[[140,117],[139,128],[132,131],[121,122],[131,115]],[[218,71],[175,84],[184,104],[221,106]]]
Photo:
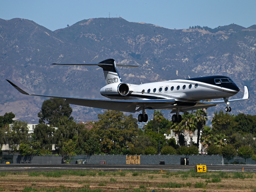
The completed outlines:
[[[146,84],[128,84],[129,94],[121,96],[111,92],[114,84],[106,85],[101,94],[110,99],[121,100],[158,100],[175,99],[178,105],[194,106],[201,100],[231,97],[239,92],[237,85],[227,76],[205,76],[189,79],[177,79]],[[109,87],[109,91],[106,91]],[[190,103],[190,104],[189,104]]]

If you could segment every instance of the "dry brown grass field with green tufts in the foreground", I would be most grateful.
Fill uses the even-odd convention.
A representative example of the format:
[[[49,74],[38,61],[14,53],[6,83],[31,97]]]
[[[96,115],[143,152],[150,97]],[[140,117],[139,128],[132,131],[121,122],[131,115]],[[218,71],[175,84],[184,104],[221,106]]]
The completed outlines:
[[[49,171],[0,172],[0,191],[253,191],[252,172]]]

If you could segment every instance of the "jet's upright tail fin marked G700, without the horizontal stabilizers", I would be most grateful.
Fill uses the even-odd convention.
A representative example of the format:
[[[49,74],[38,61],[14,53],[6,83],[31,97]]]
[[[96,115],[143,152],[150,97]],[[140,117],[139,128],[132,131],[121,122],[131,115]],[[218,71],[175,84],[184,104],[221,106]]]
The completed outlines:
[[[116,69],[116,62],[113,59],[106,59],[99,64],[111,64],[111,65],[99,65],[99,67],[103,68],[103,73],[105,77],[106,84],[112,83],[120,83],[122,82],[121,77],[119,76],[117,69]]]

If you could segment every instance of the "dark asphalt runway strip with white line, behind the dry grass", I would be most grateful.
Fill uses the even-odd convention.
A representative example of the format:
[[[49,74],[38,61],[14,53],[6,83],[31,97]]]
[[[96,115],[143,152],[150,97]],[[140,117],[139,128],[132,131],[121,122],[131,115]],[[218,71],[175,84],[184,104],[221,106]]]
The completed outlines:
[[[208,171],[250,171],[256,172],[254,165],[207,165]],[[165,170],[165,171],[188,171],[194,169],[194,165],[111,165],[111,164],[0,164],[0,171],[54,171],[54,170]]]

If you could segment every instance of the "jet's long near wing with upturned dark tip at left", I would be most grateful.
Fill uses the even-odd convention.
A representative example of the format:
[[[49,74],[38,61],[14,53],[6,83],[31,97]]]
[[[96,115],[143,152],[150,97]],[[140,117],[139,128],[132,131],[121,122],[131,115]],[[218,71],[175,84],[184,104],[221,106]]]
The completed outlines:
[[[7,79],[6,79],[7,80]],[[109,99],[88,99],[88,98],[76,98],[76,97],[62,97],[62,96],[53,96],[53,95],[38,95],[38,94],[29,94],[23,91],[20,87],[7,80],[14,88],[19,92],[25,95],[34,95],[41,97],[51,97],[51,98],[60,98],[65,99],[65,103],[101,108],[101,109],[110,109],[118,110],[124,112],[140,111],[143,107],[166,107],[175,103],[174,99],[163,99],[163,100],[109,100]]]

